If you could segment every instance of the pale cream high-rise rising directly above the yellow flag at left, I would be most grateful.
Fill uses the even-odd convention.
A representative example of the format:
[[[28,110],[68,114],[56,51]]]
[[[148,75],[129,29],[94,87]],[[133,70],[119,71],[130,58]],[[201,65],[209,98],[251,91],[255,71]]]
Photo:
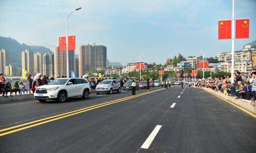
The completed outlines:
[[[34,52],[25,50],[22,51],[22,69],[29,74],[34,74]]]

